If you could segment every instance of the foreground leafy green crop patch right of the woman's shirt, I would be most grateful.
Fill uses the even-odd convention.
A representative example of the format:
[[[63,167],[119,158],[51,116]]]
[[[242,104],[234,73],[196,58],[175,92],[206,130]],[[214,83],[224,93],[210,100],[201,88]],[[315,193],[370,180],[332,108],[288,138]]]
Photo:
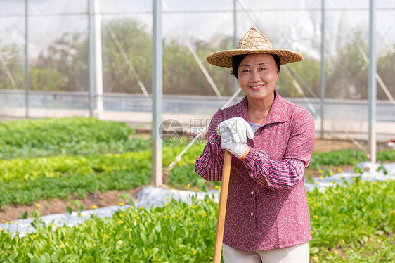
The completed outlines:
[[[370,183],[355,178],[346,187],[326,188],[325,193],[318,190],[307,193],[312,250],[325,259],[330,254],[328,248],[361,250],[361,246],[367,245],[372,238],[392,236],[394,240],[394,189],[394,180]]]

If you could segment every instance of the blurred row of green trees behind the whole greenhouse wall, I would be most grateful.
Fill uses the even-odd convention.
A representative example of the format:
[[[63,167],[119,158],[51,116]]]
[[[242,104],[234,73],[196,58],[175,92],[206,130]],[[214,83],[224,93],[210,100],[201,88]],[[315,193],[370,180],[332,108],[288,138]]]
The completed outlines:
[[[368,53],[367,37],[361,29],[349,32],[348,41],[339,46],[335,56],[325,59],[325,82],[327,98],[366,99],[368,90],[368,63],[359,50]],[[152,43],[146,25],[132,18],[119,18],[103,23],[103,87],[105,92],[141,94],[138,80],[150,93]],[[223,37],[221,43],[192,43],[200,60],[214,51],[232,49],[233,38]],[[394,49],[383,49],[377,53],[377,73],[395,94]],[[41,51],[39,59],[30,65],[30,89],[37,91],[88,91],[89,87],[89,42],[86,34],[63,34]],[[1,46],[6,65],[0,65],[0,89],[24,89],[23,47]],[[164,94],[214,95],[214,91],[194,60],[187,46],[178,39],[165,39],[163,50]],[[286,65],[316,96],[320,94],[320,61],[304,54],[301,63]],[[210,76],[221,94],[233,94],[231,70],[205,63]],[[132,70],[131,68],[134,68]],[[13,79],[6,74],[11,72]],[[135,73],[134,73],[135,72]],[[14,82],[14,83],[13,83]],[[294,89],[292,79],[280,72],[278,90],[285,97],[301,97]],[[306,93],[306,96],[311,94]],[[387,99],[382,89],[377,89],[378,99]]]

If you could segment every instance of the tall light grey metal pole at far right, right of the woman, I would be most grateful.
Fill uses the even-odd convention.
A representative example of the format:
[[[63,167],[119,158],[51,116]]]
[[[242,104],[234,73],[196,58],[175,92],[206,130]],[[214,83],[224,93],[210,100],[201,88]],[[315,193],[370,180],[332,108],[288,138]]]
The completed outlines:
[[[376,162],[376,1],[370,0],[369,8],[369,155],[370,162]]]

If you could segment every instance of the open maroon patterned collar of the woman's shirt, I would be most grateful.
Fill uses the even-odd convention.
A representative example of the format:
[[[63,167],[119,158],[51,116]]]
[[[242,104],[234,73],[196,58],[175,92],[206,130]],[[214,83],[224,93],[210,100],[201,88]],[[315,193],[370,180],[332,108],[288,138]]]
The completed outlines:
[[[239,103],[240,106],[240,113],[244,120],[250,123],[250,119],[248,118],[248,100],[247,96],[242,98],[242,101]],[[289,104],[285,99],[283,99],[277,91],[274,91],[274,101],[271,105],[271,108],[266,116],[265,120],[261,123],[260,127],[263,127],[269,123],[276,123],[276,122],[285,122],[287,121],[287,109],[289,108]]]

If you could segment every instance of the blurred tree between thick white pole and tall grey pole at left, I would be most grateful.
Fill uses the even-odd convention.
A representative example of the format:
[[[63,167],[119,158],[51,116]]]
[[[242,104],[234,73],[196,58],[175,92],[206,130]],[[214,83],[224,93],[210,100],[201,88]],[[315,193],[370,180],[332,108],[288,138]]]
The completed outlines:
[[[151,39],[147,27],[131,18],[103,24],[104,91],[141,94],[140,80],[151,92]]]

